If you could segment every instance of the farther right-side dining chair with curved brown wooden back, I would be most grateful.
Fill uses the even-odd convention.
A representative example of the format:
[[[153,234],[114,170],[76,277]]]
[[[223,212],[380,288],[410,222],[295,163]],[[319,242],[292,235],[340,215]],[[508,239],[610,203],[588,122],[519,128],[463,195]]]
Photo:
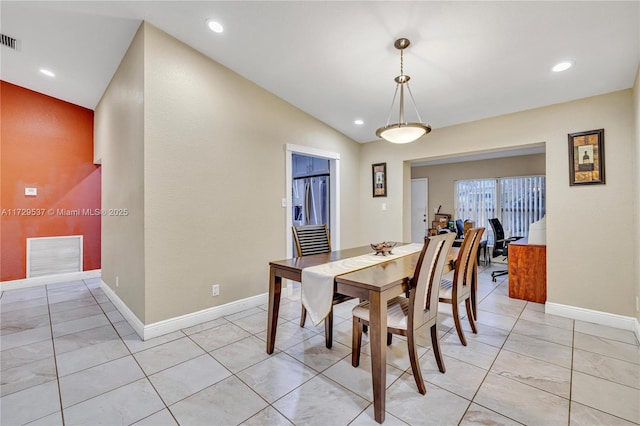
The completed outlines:
[[[440,283],[440,302],[450,303],[453,313],[453,322],[456,325],[458,337],[464,346],[467,346],[467,339],[464,337],[462,325],[460,324],[459,304],[464,300],[467,308],[467,318],[471,325],[471,330],[478,333],[475,323],[475,301],[476,301],[476,281],[478,279],[478,247],[484,228],[471,228],[464,234],[462,246],[458,251],[453,270],[453,279],[443,279]]]

